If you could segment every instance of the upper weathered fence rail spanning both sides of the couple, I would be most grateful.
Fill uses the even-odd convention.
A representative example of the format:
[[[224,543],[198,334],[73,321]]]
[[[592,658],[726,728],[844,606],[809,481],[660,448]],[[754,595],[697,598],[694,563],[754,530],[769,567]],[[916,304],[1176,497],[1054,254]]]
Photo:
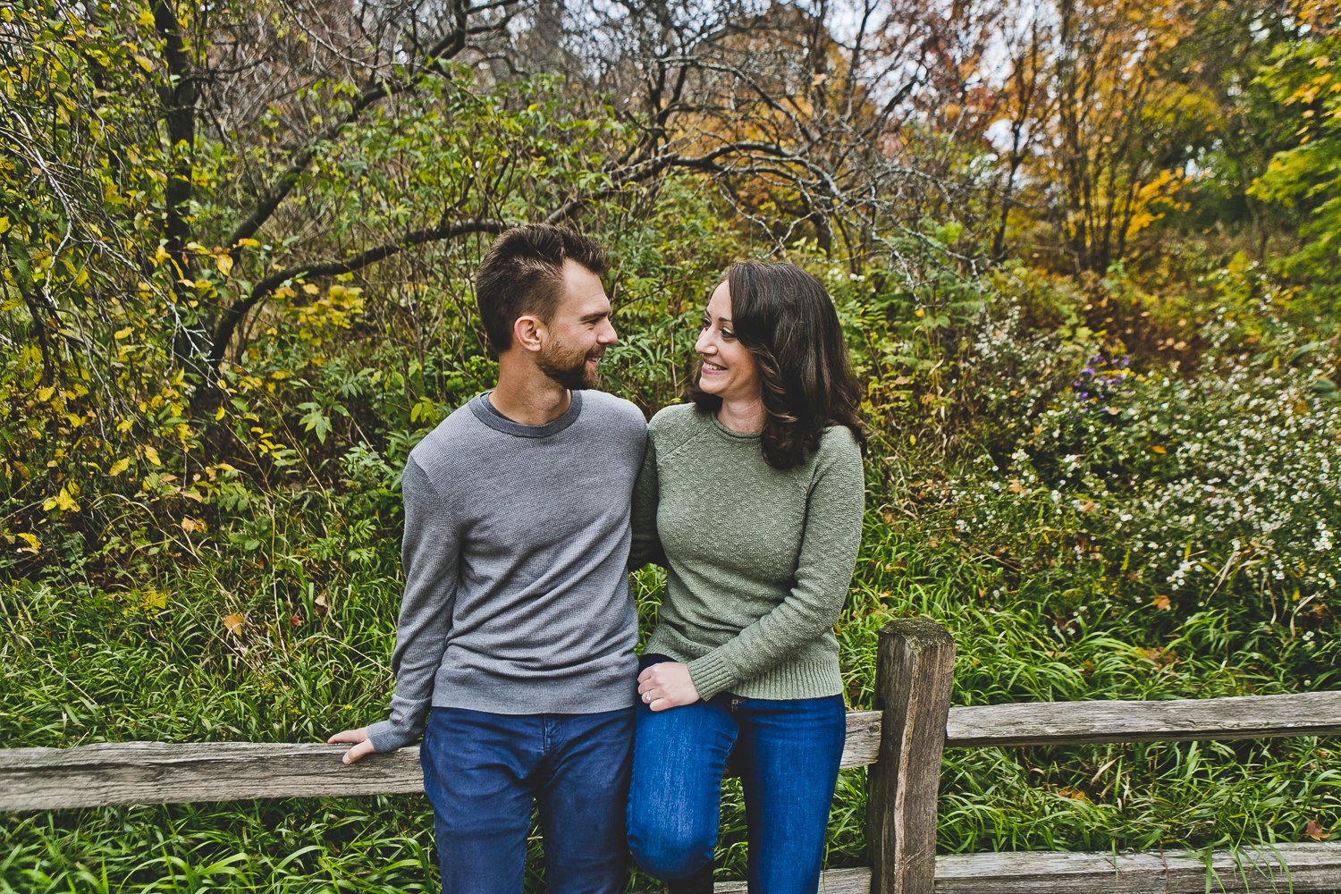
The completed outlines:
[[[951,708],[945,747],[1341,735],[1341,692]],[[848,714],[843,767],[874,763],[881,712]],[[418,749],[354,767],[320,743],[123,743],[0,749],[0,810],[420,791]]]

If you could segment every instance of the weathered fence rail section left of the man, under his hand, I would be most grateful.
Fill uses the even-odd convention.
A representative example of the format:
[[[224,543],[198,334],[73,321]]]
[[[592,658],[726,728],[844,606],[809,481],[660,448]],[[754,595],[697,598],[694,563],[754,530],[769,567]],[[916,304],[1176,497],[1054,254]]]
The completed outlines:
[[[418,748],[341,763],[310,743],[122,743],[0,749],[0,810],[221,802],[424,791]]]

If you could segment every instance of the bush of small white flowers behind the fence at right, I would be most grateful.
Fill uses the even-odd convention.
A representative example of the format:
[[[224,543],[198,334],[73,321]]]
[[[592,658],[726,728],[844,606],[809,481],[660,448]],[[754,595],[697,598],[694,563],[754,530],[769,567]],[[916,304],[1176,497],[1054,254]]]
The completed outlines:
[[[1124,362],[1096,398],[1065,385],[1084,357],[1030,339],[1018,314],[988,322],[974,351],[1000,441],[944,492],[963,539],[986,547],[1026,541],[1030,529],[1063,533],[1077,556],[1120,564],[1144,592],[1337,587],[1341,402],[1306,371],[1236,359],[1207,361],[1192,378],[1145,378]],[[1094,366],[1086,382],[1105,374]]]

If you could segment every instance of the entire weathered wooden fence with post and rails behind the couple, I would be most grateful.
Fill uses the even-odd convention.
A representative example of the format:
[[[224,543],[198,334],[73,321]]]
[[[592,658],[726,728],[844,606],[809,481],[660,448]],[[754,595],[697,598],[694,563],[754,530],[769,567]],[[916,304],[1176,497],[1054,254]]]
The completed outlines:
[[[1341,692],[1180,701],[951,708],[955,647],[935,622],[880,634],[880,710],[848,714],[843,767],[870,765],[869,869],[830,870],[822,891],[1108,894],[1341,891],[1341,844],[1164,854],[998,852],[936,856],[943,748],[1328,736]],[[353,767],[326,744],[126,743],[0,749],[0,810],[422,791],[417,748]],[[717,891],[744,891],[727,882]]]

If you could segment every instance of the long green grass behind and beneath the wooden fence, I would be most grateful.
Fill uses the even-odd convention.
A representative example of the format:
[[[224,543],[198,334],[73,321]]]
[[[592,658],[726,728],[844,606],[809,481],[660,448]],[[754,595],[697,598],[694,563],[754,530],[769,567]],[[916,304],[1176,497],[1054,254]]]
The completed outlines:
[[[314,741],[377,718],[392,685],[394,543],[357,574],[312,568],[267,554],[249,564],[217,559],[208,572],[165,564],[123,588],[74,576],[11,582],[0,590],[0,735],[8,747]],[[638,578],[645,627],[658,580],[654,571]],[[1090,584],[1102,590],[1101,580]],[[231,613],[245,617],[240,635],[224,625]],[[1054,574],[1003,584],[990,558],[952,539],[929,546],[872,512],[839,622],[849,701],[870,706],[877,633],[904,615],[952,631],[957,705],[1334,685],[1297,637],[1228,610],[1177,623],[1167,614],[1086,600],[1057,587]],[[864,771],[843,771],[830,866],[868,860],[865,810]],[[1310,820],[1333,830],[1338,819],[1341,745],[1332,741],[951,749],[939,847],[1240,847],[1301,840]],[[743,828],[732,781],[719,878],[744,874]],[[430,830],[420,797],[7,815],[0,891],[433,890]],[[531,878],[534,887],[535,866]]]

